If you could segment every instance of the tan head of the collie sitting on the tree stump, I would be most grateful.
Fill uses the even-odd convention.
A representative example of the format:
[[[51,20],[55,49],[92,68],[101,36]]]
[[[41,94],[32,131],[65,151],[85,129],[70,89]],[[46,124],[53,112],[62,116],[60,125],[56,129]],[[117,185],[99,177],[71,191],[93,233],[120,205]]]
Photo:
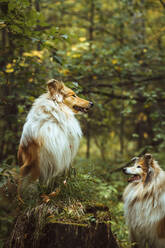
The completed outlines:
[[[47,85],[51,98],[57,103],[64,103],[74,113],[86,113],[93,106],[92,102],[78,97],[76,93],[65,86],[63,82],[51,79],[47,82]]]

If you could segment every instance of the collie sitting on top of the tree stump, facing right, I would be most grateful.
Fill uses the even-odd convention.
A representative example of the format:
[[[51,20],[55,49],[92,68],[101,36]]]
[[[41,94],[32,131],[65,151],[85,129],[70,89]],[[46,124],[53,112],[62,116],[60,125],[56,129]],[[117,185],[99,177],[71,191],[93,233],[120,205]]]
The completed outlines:
[[[93,105],[63,82],[51,79],[47,86],[28,113],[18,150],[21,180],[39,179],[46,185],[69,169],[82,136],[75,114]]]

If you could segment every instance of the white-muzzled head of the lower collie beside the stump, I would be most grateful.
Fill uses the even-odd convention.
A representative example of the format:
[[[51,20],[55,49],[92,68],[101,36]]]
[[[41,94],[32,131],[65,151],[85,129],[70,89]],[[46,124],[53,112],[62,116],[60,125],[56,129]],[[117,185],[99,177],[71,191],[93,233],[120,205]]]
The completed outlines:
[[[123,172],[127,175],[132,175],[128,182],[143,182],[146,183],[151,173],[154,171],[154,160],[152,155],[146,153],[142,157],[135,157],[132,159],[134,165],[132,167],[125,167]]]

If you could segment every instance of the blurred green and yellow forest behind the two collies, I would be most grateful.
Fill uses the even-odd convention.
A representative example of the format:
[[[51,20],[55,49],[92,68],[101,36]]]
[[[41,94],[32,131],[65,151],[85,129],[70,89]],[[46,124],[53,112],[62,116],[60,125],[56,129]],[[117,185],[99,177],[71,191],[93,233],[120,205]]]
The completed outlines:
[[[75,167],[95,178],[114,233],[128,247],[126,178],[114,170],[144,151],[164,165],[164,67],[164,0],[0,0],[0,185],[18,170],[34,99],[49,79],[63,80],[94,102],[78,117],[84,138]],[[0,205],[3,243],[13,213],[3,199]]]

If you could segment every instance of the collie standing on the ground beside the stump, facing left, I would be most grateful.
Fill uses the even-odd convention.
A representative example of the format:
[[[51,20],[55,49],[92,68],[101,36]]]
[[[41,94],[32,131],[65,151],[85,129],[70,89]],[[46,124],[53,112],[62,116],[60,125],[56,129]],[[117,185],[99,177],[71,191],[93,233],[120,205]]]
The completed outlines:
[[[165,172],[151,154],[134,158],[126,187],[124,212],[130,238],[138,248],[165,248]]]

